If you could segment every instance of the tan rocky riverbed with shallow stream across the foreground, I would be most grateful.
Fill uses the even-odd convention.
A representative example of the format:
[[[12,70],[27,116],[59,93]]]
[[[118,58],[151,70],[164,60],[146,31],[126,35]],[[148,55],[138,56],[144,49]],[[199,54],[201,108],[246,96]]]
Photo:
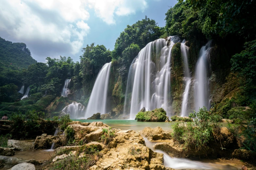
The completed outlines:
[[[250,164],[255,160],[255,153],[242,149],[226,149],[224,151],[219,151],[221,150],[219,149],[216,151],[214,150],[216,148],[209,147],[209,151],[211,151],[209,153],[212,154],[215,162],[222,161],[223,163],[223,159],[226,156],[225,158],[229,159],[229,161],[226,161],[229,166],[220,163],[217,166],[216,163],[212,163],[211,165],[205,161],[203,163],[184,159],[198,159],[204,155],[200,152],[184,150],[184,146],[182,144],[179,144],[172,139],[172,131],[164,131],[160,127],[156,127],[154,129],[145,127],[140,133],[138,133],[134,130],[121,130],[117,128],[111,129],[107,124],[100,121],[91,123],[73,121],[68,124],[68,128],[72,128],[74,130],[75,141],[77,141],[78,144],[79,141],[84,141],[82,145],[66,146],[67,143],[65,141],[67,136],[64,133],[60,133],[55,136],[43,134],[38,136],[33,143],[9,140],[9,148],[0,148],[0,155],[4,155],[0,156],[0,167],[9,169],[11,167],[15,168],[14,166],[16,165],[17,167],[27,166],[30,169],[32,167],[33,169],[35,167],[34,165],[36,165],[37,169],[51,169],[56,165],[56,163],[63,163],[61,162],[63,160],[68,160],[70,158],[88,158],[89,155],[91,164],[85,169],[90,170],[180,169],[185,162],[188,163],[187,165],[184,165],[182,169],[190,169],[190,167],[194,167],[194,169],[214,169],[214,167],[217,167],[216,169],[237,169],[242,165],[246,165],[248,169],[255,169],[253,165]],[[226,146],[234,145],[234,137],[229,134],[225,127],[222,128],[222,134],[225,139],[223,140],[223,144]],[[50,149],[53,143],[56,148],[55,151],[51,151],[50,153],[45,152],[45,149]],[[92,147],[96,148],[96,154],[88,152],[88,148],[90,149]],[[15,151],[16,154],[14,153]],[[45,154],[42,154],[42,151],[48,154],[48,157],[45,156]],[[21,156],[22,152],[27,152],[30,156],[26,157],[26,154]],[[221,155],[224,152],[227,154]],[[31,157],[33,153],[35,156]],[[37,154],[42,154],[41,159]],[[216,158],[219,156],[221,156],[220,158],[222,159],[220,159],[220,161],[216,161]],[[232,163],[230,163],[230,159],[232,159]],[[249,163],[242,163],[236,159],[244,160]],[[31,166],[31,164],[33,166]],[[182,166],[179,166],[179,164],[182,164]]]

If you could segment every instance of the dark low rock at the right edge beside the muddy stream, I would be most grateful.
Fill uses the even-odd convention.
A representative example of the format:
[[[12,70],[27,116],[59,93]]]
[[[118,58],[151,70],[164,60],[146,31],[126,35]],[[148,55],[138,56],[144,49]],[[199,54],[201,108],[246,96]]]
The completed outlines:
[[[247,161],[255,161],[256,152],[253,152],[252,150],[235,149],[234,152],[232,153],[232,158]]]

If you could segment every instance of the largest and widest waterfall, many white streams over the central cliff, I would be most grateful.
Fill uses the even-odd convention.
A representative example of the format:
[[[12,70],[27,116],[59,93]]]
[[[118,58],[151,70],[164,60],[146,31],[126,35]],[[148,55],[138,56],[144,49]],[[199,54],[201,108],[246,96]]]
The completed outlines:
[[[171,49],[176,42],[179,42],[177,36],[170,36],[167,41],[161,38],[150,42],[132,62],[124,108],[129,110],[130,119],[134,119],[143,107],[150,110],[162,107],[170,116]]]

